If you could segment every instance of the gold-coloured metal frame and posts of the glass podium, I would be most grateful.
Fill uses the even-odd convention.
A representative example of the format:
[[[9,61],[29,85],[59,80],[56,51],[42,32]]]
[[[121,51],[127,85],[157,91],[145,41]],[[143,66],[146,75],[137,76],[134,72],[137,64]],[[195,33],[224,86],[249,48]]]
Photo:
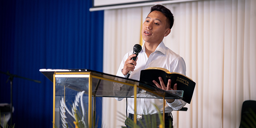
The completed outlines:
[[[118,80],[111,79],[111,78],[105,78],[105,77],[100,76],[100,75],[95,75],[93,73],[95,73],[96,71],[87,70],[87,69],[82,69],[82,70],[80,70],[80,69],[79,70],[78,69],[74,69],[74,70],[72,70],[72,69],[40,69],[40,71],[53,82],[53,128],[55,127],[54,126],[54,124],[55,124],[55,91],[56,91],[55,90],[55,88],[56,88],[55,79],[57,77],[74,77],[74,78],[86,77],[86,78],[89,78],[89,89],[88,89],[88,104],[89,104],[89,107],[88,107],[88,116],[89,116],[88,117],[88,125],[89,125],[89,128],[92,128],[92,127],[94,128],[95,127],[95,117],[92,117],[92,115],[94,115],[92,113],[92,105],[93,105],[92,104],[92,96],[97,97],[97,95],[93,94],[93,92],[92,92],[92,78],[132,86],[134,88],[134,91],[133,91],[133,95],[134,95],[134,97],[133,97],[134,98],[134,113],[136,113],[136,111],[137,111],[137,108],[136,108],[136,106],[137,106],[137,87],[140,88],[140,89],[146,90],[147,92],[151,92],[152,94],[155,94],[155,95],[158,95],[158,96],[162,97],[163,98],[163,108],[165,108],[164,105],[165,105],[166,92],[164,92],[164,93],[154,92],[152,89],[148,89],[146,86],[142,86],[140,84],[140,82],[136,81],[136,80],[127,79],[127,80],[130,80],[130,81],[134,81],[134,83],[133,84],[126,83],[126,82],[118,81]],[[47,74],[47,72],[51,72],[51,73]],[[96,72],[96,73],[100,73],[100,72]],[[104,73],[100,73],[100,74],[104,74]],[[108,74],[105,74],[105,75],[108,75]],[[109,75],[109,76],[113,76],[113,75]],[[113,77],[117,77],[117,76],[113,76]],[[120,78],[122,78],[122,77],[120,77]],[[126,78],[122,78],[122,79],[126,79]],[[64,99],[65,99],[65,93],[64,93]],[[182,99],[182,98],[177,96],[175,98],[169,97],[167,99]],[[94,101],[94,103],[95,103],[95,101]],[[93,105],[93,108],[95,108],[95,105]],[[165,113],[164,111],[165,110],[163,109],[163,113]],[[163,122],[164,122],[164,118],[165,117],[164,117],[164,114],[163,114]],[[134,119],[133,120],[134,123],[136,123],[136,121],[137,121],[136,120],[136,114],[134,114],[133,119]],[[135,125],[134,125],[134,127],[135,127]]]

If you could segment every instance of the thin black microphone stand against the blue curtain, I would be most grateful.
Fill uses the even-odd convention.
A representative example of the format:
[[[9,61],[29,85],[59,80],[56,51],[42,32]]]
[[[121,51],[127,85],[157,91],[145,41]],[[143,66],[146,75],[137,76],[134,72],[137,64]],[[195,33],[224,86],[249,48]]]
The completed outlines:
[[[8,81],[10,80],[10,90],[11,90],[11,103],[10,103],[11,125],[10,125],[10,126],[12,126],[12,81],[13,81],[13,77],[22,78],[22,79],[29,80],[29,81],[33,81],[33,82],[36,82],[36,83],[41,83],[41,81],[29,79],[29,78],[22,77],[22,76],[18,76],[18,75],[14,75],[14,74],[9,73],[9,71],[7,71],[6,73],[0,71],[0,73],[9,76],[9,78],[7,79],[7,81],[6,81],[5,83],[8,83]]]

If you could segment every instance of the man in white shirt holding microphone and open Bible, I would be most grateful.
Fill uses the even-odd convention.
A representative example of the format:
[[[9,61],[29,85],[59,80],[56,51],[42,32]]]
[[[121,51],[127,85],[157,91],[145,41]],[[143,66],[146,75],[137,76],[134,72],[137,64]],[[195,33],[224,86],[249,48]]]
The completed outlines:
[[[136,61],[132,60],[135,54],[133,51],[125,54],[123,61],[117,71],[116,76],[125,77],[129,71],[132,71],[130,79],[139,80],[140,71],[149,67],[161,67],[166,68],[170,72],[178,72],[186,75],[186,65],[185,61],[178,54],[165,47],[163,39],[168,36],[171,32],[173,26],[173,15],[172,12],[162,5],[155,5],[151,7],[151,11],[148,14],[146,20],[142,25],[141,35],[145,43],[142,45],[142,50],[138,54]],[[171,89],[171,80],[168,81],[167,86],[161,77],[159,77],[160,83],[155,80],[153,82],[158,88],[163,90],[177,90],[177,84],[174,84],[173,89]],[[120,90],[121,86],[115,86],[115,90]],[[147,94],[138,94],[138,97],[150,97]],[[122,100],[123,98],[116,98],[117,100]],[[128,98],[128,108],[129,118],[133,120],[134,114],[134,99]],[[160,113],[163,113],[163,100],[162,99],[150,99],[150,98],[138,98],[137,99],[137,113],[142,117],[150,117],[158,113],[156,106]],[[172,110],[179,110],[184,107],[186,102],[178,99],[166,99],[165,103],[165,127],[169,128],[172,126]],[[157,126],[160,124],[160,120],[157,117]],[[145,120],[137,119],[137,124],[139,126],[146,126]],[[142,124],[141,124],[142,122]],[[144,124],[143,124],[144,122]]]

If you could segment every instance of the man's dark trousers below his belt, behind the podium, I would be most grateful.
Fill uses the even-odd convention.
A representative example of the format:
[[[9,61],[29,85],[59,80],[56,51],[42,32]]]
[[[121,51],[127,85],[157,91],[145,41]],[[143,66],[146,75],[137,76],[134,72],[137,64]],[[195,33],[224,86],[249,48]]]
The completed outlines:
[[[143,115],[142,119],[137,119],[136,128],[159,128],[162,120],[158,114]],[[133,114],[129,113],[128,118],[125,120],[125,125],[127,128],[133,128]],[[165,116],[164,128],[173,128],[172,116]]]

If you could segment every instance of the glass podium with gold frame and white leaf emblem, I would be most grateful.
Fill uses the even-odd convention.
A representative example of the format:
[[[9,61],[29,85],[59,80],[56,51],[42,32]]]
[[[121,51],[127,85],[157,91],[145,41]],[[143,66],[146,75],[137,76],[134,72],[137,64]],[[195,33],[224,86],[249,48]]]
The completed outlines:
[[[94,128],[97,125],[96,97],[134,98],[134,113],[136,113],[137,98],[163,99],[165,104],[165,99],[183,97],[183,91],[164,91],[145,82],[89,69],[40,69],[39,71],[53,82],[53,128],[67,128],[74,125]],[[140,93],[149,96],[137,96]],[[136,122],[136,114],[134,114],[134,122]]]

